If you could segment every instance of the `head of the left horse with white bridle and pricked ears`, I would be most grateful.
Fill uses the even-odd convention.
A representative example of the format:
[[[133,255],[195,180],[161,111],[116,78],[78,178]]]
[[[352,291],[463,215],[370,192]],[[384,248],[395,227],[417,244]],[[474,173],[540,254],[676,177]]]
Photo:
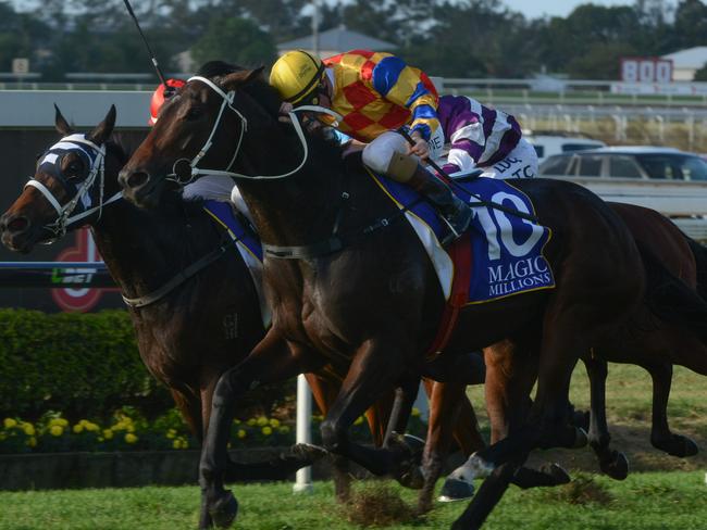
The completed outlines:
[[[55,105],[54,105],[55,106]],[[0,217],[2,243],[27,253],[35,244],[61,238],[71,226],[96,220],[117,182],[104,175],[117,174],[117,156],[107,156],[107,141],[115,125],[115,106],[88,134],[77,134],[58,106],[55,127],[62,138],[37,160],[35,174],[10,209]]]

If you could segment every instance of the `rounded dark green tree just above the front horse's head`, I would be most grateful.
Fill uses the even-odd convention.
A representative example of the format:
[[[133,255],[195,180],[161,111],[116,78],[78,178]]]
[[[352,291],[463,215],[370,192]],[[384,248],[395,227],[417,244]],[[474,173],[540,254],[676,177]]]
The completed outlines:
[[[238,65],[272,64],[277,50],[270,34],[253,21],[237,17],[211,18],[206,34],[191,48],[197,63],[221,60]]]

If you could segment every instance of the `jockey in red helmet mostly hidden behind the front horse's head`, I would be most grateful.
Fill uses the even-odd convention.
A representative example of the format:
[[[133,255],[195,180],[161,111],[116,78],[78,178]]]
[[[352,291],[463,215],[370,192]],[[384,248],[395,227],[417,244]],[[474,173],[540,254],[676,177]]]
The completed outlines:
[[[164,102],[185,85],[186,83],[182,79],[168,79],[154,89],[150,102],[150,121],[148,122],[150,127],[157,123],[160,109]],[[240,191],[238,191],[238,187],[235,186],[233,178],[226,175],[206,175],[194,182],[189,182],[184,187],[182,197],[185,199],[213,199],[214,201],[232,202],[252,224],[250,212],[240,195]]]

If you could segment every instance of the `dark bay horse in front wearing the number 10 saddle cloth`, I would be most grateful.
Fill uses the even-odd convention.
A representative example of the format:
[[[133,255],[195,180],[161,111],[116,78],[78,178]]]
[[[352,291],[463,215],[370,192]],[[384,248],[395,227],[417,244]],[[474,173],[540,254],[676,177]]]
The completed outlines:
[[[352,443],[348,427],[385,388],[425,373],[425,349],[444,300],[413,231],[361,171],[325,142],[298,136],[277,119],[281,101],[258,71],[190,80],[121,173],[126,197],[154,205],[165,177],[222,171],[239,187],[262,240],[274,324],[247,359],[222,377],[200,480],[214,520],[230,525],[235,499],[223,489],[225,428],[238,398],[257,384],[317,369],[345,357],[350,369],[322,424],[324,444],[368,468],[395,455]],[[191,167],[190,167],[191,166]],[[234,168],[234,171],[232,171]],[[534,447],[576,446],[586,436],[568,424],[568,390],[576,359],[630,324],[647,283],[641,253],[625,225],[590,191],[563,181],[516,186],[553,230],[546,248],[557,278],[534,292],[469,306],[443,356],[525,332],[542,318],[538,391],[532,420],[484,450],[514,470]],[[492,212],[493,215],[493,212]],[[283,255],[295,257],[282,260]],[[273,348],[284,339],[286,355]]]

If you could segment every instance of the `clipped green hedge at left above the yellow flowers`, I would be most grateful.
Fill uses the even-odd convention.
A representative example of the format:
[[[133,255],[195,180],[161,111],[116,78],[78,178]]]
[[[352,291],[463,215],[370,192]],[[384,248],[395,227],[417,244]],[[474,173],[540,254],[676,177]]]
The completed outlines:
[[[0,310],[0,416],[106,417],[124,405],[173,406],[140,359],[126,311]]]

